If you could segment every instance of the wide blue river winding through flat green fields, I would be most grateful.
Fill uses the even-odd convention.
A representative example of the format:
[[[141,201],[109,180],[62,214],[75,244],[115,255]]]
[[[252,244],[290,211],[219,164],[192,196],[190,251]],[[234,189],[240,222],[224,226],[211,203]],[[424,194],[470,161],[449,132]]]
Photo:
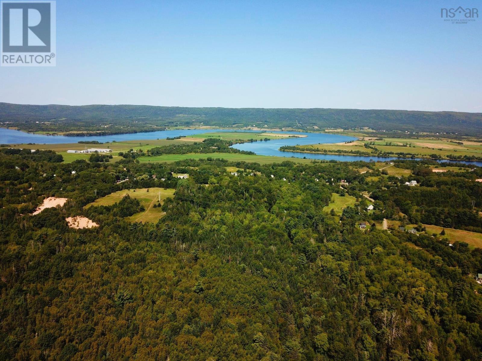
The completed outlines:
[[[1,144],[59,144],[59,143],[77,143],[79,141],[99,141],[99,142],[121,142],[131,140],[148,140],[148,139],[165,139],[167,137],[177,137],[180,135],[193,135],[202,133],[211,133],[214,131],[237,131],[226,129],[177,129],[177,130],[161,130],[153,132],[142,133],[128,133],[128,134],[114,134],[114,135],[95,135],[87,137],[66,137],[63,135],[43,135],[26,133],[14,129],[0,128],[0,143]],[[256,130],[242,130],[242,132],[259,133]],[[302,132],[281,132],[281,131],[269,131],[269,133],[287,133],[293,135],[306,135],[303,138],[288,138],[288,139],[275,139],[268,142],[253,142],[242,143],[233,145],[234,148],[251,151],[258,155],[277,155],[282,157],[295,157],[295,158],[308,158],[308,159],[324,159],[324,160],[339,160],[342,162],[353,162],[357,160],[369,161],[387,161],[392,159],[398,159],[395,157],[375,157],[375,156],[361,156],[361,155],[327,155],[327,154],[309,154],[309,153],[296,153],[296,152],[281,152],[279,148],[283,145],[305,145],[305,144],[318,144],[318,143],[339,143],[356,140],[357,138],[348,137],[338,134],[325,134],[325,133],[302,133]],[[444,161],[441,161],[444,162]],[[482,162],[463,162],[460,163],[474,164],[482,167]]]

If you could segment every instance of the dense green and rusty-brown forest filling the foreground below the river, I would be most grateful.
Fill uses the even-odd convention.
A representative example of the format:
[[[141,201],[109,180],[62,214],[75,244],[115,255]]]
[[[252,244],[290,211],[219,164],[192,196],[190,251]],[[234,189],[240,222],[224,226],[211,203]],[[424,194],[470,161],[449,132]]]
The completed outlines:
[[[374,222],[477,217],[482,168],[106,160],[0,152],[0,360],[481,360],[482,249]],[[124,219],[142,211],[135,197],[85,207],[149,187],[175,189],[154,223]],[[333,193],[356,199],[341,217]],[[68,201],[32,216],[48,196]],[[69,228],[80,215],[99,227]]]

